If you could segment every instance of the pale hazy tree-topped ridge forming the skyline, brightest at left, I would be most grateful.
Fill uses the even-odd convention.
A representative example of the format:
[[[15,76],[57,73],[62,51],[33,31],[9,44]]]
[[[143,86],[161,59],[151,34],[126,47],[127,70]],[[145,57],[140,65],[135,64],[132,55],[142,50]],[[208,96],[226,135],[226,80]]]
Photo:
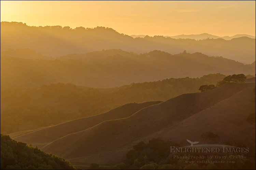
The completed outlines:
[[[255,60],[255,39],[248,37],[224,39],[173,39],[163,36],[132,38],[111,28],[46,26],[29,27],[23,23],[1,22],[1,50],[31,48],[43,55],[60,56],[102,49],[122,49],[136,53],[161,50],[172,54],[187,50],[210,56],[223,56],[242,63]]]

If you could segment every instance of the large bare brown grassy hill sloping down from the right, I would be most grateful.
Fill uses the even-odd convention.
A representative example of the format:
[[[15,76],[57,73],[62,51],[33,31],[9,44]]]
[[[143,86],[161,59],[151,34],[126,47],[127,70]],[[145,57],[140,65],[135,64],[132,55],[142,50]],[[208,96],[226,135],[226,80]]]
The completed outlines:
[[[254,83],[226,83],[204,93],[184,94],[146,107],[124,119],[104,121],[90,129],[67,135],[42,148],[71,161],[110,164],[121,161],[139,141],[161,137],[188,145],[186,139],[212,144],[201,138],[212,131],[219,143],[232,141],[255,152]]]

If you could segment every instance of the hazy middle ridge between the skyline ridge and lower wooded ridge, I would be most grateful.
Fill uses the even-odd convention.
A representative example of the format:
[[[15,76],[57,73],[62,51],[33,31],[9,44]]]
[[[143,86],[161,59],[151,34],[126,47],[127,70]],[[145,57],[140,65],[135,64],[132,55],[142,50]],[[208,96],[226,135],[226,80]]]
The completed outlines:
[[[26,59],[26,56],[32,58],[31,53],[41,58],[47,57],[34,51],[25,51],[28,51],[27,55],[22,50],[2,52],[4,56],[1,56],[1,90],[39,88],[42,84],[59,82],[106,88],[167,78],[201,77],[219,72],[255,74],[255,62],[244,65],[202,53],[183,52],[172,55],[155,50],[136,54],[122,50],[104,50],[69,54],[58,57],[58,60],[31,60]]]

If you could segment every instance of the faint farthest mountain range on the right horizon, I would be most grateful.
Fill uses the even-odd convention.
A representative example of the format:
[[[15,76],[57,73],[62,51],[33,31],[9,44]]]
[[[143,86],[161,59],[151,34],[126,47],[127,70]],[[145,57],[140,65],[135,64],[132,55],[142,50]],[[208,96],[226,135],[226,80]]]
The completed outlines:
[[[146,35],[130,35],[133,38],[144,38]],[[248,35],[248,34],[237,34],[234,36],[224,36],[224,37],[220,37],[220,36],[216,36],[216,35],[211,35],[211,34],[207,34],[207,33],[203,33],[203,34],[190,34],[190,35],[175,35],[175,36],[164,36],[164,37],[170,37],[170,38],[174,38],[174,39],[195,39],[195,40],[200,40],[200,39],[217,39],[217,38],[222,38],[225,40],[231,40],[233,38],[239,38],[239,37],[249,37],[249,38],[255,38],[255,36],[252,35]]]

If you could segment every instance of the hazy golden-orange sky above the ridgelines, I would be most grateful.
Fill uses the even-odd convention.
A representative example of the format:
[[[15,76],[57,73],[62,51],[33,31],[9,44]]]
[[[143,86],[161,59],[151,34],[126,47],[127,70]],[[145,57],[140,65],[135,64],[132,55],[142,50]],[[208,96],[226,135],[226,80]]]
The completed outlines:
[[[110,27],[127,35],[255,36],[255,1],[3,1],[1,21]]]

